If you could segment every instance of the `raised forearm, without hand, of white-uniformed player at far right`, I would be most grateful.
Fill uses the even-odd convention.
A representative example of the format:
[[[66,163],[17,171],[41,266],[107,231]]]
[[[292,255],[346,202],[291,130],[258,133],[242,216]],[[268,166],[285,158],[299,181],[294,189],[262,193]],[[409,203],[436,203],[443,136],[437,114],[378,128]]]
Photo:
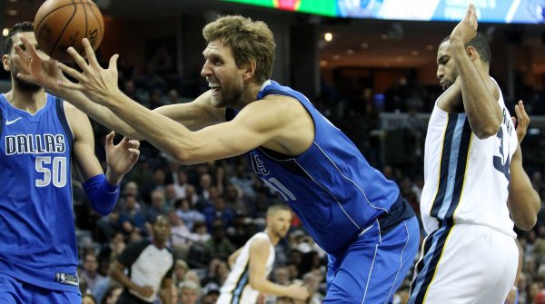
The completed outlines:
[[[451,41],[452,57],[458,67],[461,94],[471,131],[479,138],[494,135],[500,129],[502,113],[481,73],[459,41]]]

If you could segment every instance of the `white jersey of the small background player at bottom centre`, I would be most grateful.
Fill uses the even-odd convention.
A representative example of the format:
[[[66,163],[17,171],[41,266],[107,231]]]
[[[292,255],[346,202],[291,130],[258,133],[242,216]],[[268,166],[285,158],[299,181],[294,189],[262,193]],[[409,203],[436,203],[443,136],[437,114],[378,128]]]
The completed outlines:
[[[233,264],[233,269],[223,283],[220,298],[216,304],[254,304],[259,296],[259,291],[250,286],[250,247],[253,240],[266,239],[269,241],[269,258],[265,263],[264,278],[267,278],[274,263],[274,246],[269,235],[258,232],[250,240],[246,241],[239,256]]]

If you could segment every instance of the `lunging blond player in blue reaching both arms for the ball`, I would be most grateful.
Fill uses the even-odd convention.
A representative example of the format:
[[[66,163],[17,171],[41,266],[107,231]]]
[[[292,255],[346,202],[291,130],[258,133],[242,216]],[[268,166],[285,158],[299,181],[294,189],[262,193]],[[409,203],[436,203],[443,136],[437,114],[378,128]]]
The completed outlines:
[[[64,96],[100,123],[145,140],[179,162],[248,153],[254,171],[276,189],[329,257],[326,303],[387,303],[411,268],[418,221],[400,190],[312,103],[269,78],[272,32],[263,22],[223,16],[206,25],[203,77],[210,90],[192,103],[150,111],[117,87],[117,57],[108,69],[84,40],[83,69],[17,60],[19,75]],[[25,44],[26,45],[26,44]],[[29,48],[32,46],[29,44]],[[56,79],[57,81],[52,81]]]

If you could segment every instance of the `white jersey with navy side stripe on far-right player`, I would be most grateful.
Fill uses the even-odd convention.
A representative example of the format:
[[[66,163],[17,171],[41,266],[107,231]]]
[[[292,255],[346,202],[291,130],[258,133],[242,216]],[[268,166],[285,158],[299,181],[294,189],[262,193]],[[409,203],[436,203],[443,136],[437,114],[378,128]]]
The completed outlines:
[[[440,224],[466,223],[516,236],[507,199],[510,160],[518,140],[501,91],[498,103],[503,113],[500,131],[483,140],[471,132],[465,113],[446,113],[435,103],[426,136],[421,194],[427,233]]]

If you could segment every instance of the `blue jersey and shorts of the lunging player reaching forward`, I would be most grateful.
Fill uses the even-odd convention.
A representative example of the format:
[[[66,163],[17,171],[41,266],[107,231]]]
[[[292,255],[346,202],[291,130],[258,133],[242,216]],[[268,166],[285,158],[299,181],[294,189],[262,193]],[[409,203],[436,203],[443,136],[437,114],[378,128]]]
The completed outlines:
[[[268,95],[298,101],[314,123],[312,144],[301,155],[258,147],[248,156],[253,171],[278,191],[328,253],[323,302],[388,302],[411,268],[420,242],[411,206],[395,182],[373,168],[302,93],[268,80],[255,103],[268,103]],[[237,113],[227,109],[227,121]]]

